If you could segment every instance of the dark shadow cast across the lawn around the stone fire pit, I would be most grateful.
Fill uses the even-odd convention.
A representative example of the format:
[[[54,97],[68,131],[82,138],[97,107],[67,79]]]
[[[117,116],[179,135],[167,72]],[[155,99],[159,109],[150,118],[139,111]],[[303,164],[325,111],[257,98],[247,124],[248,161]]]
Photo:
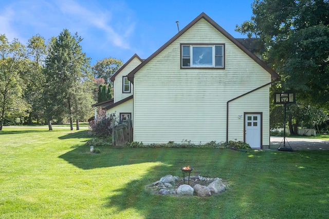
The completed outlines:
[[[145,173],[138,179],[135,178],[138,174],[132,172],[132,180],[127,179],[129,182],[108,195],[104,207],[115,209],[117,218],[129,217],[127,212],[131,209],[143,218],[291,218],[291,215],[311,218],[312,209],[316,208],[325,211],[326,215],[328,213],[326,204],[308,204],[306,208],[303,202],[295,209],[282,211],[287,202],[296,204],[296,201],[303,200],[303,191],[312,190],[314,185],[305,184],[302,177],[305,174],[313,174],[312,184],[319,181],[317,190],[328,191],[323,180],[327,172],[314,172],[314,168],[320,168],[328,161],[329,158],[324,159],[328,153],[325,156],[317,152],[242,153],[230,149],[98,148],[101,153],[95,154],[83,145],[59,157],[85,170],[122,166],[122,171],[129,171],[128,165],[153,163],[142,168]],[[312,166],[310,160],[318,161],[319,164]],[[298,168],[302,164],[303,168]],[[179,168],[187,165],[194,168],[193,175],[223,178],[230,185],[229,189],[223,194],[207,198],[155,195],[145,190],[145,186],[164,175],[181,177]],[[297,191],[291,182],[300,185],[301,191]],[[288,191],[294,191],[293,195]],[[281,197],[279,200],[278,194]],[[325,194],[320,196],[323,197]]]

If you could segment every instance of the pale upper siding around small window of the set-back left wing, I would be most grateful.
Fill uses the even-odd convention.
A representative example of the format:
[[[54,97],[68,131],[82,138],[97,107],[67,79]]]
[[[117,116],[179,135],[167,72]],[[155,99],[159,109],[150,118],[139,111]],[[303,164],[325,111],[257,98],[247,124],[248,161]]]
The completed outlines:
[[[122,71],[115,77],[114,81],[114,103],[117,103],[118,101],[121,101],[121,99],[124,99],[128,96],[131,96],[134,94],[134,86],[131,84],[130,86],[130,93],[122,93],[122,76],[126,76],[129,72],[134,70],[139,64],[140,60],[135,57]]]

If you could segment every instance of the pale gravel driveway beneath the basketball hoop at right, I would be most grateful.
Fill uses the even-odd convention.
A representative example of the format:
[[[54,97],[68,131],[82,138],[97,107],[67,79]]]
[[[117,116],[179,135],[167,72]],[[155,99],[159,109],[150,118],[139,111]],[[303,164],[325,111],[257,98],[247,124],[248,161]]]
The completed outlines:
[[[271,136],[270,141],[271,149],[277,149],[280,144],[281,147],[283,147],[283,137]],[[293,150],[329,150],[329,137],[328,141],[308,138],[286,137],[286,147],[289,147],[289,145]]]

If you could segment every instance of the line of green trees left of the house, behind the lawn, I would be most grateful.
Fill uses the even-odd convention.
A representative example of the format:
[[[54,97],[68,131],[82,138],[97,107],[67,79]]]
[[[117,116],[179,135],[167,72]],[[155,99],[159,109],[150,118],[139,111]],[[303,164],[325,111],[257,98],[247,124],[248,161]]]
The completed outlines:
[[[39,34],[27,45],[0,34],[0,131],[4,125],[70,124],[93,115],[98,88],[112,98],[109,78],[122,61],[109,57],[94,66],[80,45],[83,39],[64,29],[46,43]]]

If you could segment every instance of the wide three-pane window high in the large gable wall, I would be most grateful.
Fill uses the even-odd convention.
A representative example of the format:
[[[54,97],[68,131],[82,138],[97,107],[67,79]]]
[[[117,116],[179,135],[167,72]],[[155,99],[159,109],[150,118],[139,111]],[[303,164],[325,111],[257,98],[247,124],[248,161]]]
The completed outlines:
[[[224,68],[224,45],[181,45],[182,68]]]

